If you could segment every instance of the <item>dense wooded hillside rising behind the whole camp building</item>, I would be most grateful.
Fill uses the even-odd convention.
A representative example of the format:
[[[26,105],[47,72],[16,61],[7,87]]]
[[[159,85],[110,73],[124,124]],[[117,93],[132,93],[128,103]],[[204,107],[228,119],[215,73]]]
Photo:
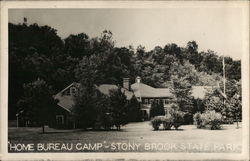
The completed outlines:
[[[23,84],[38,77],[54,91],[60,91],[71,82],[82,81],[85,88],[92,88],[92,84],[121,85],[122,78],[134,80],[140,75],[143,83],[150,86],[171,87],[180,110],[190,112],[190,107],[183,106],[190,103],[190,87],[214,86],[222,76],[222,57],[211,50],[199,52],[198,47],[195,41],[190,41],[185,47],[171,43],[150,51],[139,45],[134,50],[134,47],[116,47],[113,34],[108,30],[99,37],[91,38],[83,32],[62,40],[56,29],[49,26],[9,23],[9,118],[14,119],[18,111]],[[225,64],[227,87],[234,87],[234,81],[241,79],[241,61],[225,57]],[[232,108],[226,113],[234,114],[233,107],[239,99],[230,91],[234,90],[226,93],[232,98],[228,101]],[[210,102],[219,103],[216,98],[211,98]],[[221,108],[220,105],[210,107]],[[237,109],[240,120],[241,106]]]

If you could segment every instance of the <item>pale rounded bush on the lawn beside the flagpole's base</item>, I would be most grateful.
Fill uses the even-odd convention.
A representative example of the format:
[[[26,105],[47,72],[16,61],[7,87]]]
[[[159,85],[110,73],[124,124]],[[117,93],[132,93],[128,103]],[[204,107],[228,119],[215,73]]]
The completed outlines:
[[[215,111],[206,111],[203,114],[196,113],[194,122],[197,128],[209,127],[211,130],[221,129],[222,115]]]

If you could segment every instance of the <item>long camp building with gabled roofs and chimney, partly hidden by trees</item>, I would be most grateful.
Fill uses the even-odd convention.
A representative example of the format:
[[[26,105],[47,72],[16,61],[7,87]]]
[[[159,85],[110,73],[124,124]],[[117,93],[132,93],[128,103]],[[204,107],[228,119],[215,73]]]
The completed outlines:
[[[54,96],[54,98],[58,100],[58,110],[55,115],[56,121],[54,123],[55,127],[74,127],[72,110],[74,106],[74,96],[78,87],[79,83],[72,83]],[[194,98],[203,99],[206,91],[211,88],[210,86],[193,86],[192,96]],[[103,94],[109,95],[109,91],[118,89],[118,86],[113,84],[102,84],[97,86],[97,89]],[[135,95],[140,102],[143,119],[149,119],[150,107],[154,100],[163,101],[166,113],[169,112],[171,105],[176,102],[169,88],[153,88],[144,84],[141,77],[136,77],[134,84],[130,84],[129,78],[124,78],[121,90],[126,95],[127,100],[130,100],[132,96]]]

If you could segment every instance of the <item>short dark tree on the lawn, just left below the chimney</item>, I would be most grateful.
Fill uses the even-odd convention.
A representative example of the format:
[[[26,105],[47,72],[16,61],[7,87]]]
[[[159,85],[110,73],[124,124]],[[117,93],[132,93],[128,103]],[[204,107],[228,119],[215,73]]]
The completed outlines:
[[[127,106],[128,102],[126,95],[121,91],[121,87],[118,89],[110,90],[109,94],[110,106],[111,106],[111,115],[114,120],[114,125],[117,127],[117,130],[121,129],[121,125],[128,123],[127,120]]]

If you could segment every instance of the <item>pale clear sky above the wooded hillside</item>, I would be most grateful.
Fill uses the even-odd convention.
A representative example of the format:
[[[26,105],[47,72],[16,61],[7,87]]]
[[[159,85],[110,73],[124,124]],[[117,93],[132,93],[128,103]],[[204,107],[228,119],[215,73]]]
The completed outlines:
[[[138,45],[152,50],[176,43],[185,47],[196,41],[199,51],[208,49],[235,60],[242,55],[242,12],[238,8],[154,8],[154,9],[10,9],[9,22],[48,25],[61,38],[86,33],[113,33],[116,46]]]

